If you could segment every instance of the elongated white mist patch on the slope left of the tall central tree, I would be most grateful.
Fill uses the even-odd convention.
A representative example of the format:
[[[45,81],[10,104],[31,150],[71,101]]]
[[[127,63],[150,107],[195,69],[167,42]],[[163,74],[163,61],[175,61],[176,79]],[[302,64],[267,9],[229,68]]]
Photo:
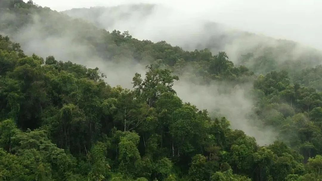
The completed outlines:
[[[117,59],[102,59],[99,57],[95,47],[86,41],[80,42],[71,29],[65,29],[60,33],[48,35],[44,30],[44,24],[40,21],[38,14],[33,15],[33,23],[27,24],[17,33],[9,37],[14,42],[19,42],[22,50],[31,56],[35,53],[44,59],[54,56],[56,60],[71,61],[81,64],[87,68],[99,68],[101,73],[106,75],[105,81],[110,86],[120,85],[132,89],[132,78],[135,73],[144,75],[145,65],[139,64],[134,59],[118,57]],[[5,18],[14,18],[8,14]],[[1,19],[0,19],[1,20]]]

